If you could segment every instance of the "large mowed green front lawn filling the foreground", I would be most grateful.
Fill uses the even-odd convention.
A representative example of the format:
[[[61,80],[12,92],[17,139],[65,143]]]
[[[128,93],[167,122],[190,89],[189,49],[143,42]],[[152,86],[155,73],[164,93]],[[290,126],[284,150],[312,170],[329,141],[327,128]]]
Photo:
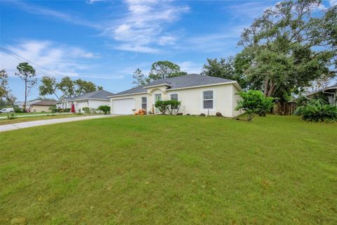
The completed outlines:
[[[0,224],[337,224],[337,124],[110,117],[0,148]]]

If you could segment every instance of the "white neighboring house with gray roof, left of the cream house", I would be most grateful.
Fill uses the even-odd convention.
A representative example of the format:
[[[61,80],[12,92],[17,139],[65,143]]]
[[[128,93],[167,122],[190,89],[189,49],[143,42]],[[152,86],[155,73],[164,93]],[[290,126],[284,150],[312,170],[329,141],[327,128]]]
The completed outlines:
[[[79,110],[83,112],[83,108],[98,108],[100,105],[109,105],[110,101],[107,96],[112,96],[113,93],[105,90],[98,90],[89,92],[86,94],[81,94],[73,98],[65,97],[61,98],[56,104],[57,108],[72,108],[74,104],[75,111],[78,113]]]

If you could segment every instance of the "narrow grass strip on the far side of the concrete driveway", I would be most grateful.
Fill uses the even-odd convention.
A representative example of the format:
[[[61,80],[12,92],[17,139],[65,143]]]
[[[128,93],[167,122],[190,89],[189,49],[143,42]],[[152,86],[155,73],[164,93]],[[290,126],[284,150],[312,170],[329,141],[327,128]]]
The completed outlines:
[[[51,119],[60,119],[60,118],[67,118],[67,117],[84,117],[89,115],[100,115],[100,114],[86,114],[83,113],[81,115],[79,114],[62,114],[62,113],[55,113],[54,115],[37,115],[34,117],[17,117],[14,120],[8,120],[1,119],[0,125],[6,125],[6,124],[16,124],[18,122],[29,122],[29,121],[35,121],[35,120],[51,120]]]

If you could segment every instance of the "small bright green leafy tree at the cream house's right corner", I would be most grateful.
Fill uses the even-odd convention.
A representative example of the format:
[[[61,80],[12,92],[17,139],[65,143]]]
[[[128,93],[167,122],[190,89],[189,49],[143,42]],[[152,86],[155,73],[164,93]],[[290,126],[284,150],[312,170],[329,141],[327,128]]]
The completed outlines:
[[[265,113],[272,108],[274,98],[265,97],[262,91],[240,91],[238,95],[242,100],[237,102],[236,110],[245,110],[248,121],[253,119],[255,113],[265,116]]]

